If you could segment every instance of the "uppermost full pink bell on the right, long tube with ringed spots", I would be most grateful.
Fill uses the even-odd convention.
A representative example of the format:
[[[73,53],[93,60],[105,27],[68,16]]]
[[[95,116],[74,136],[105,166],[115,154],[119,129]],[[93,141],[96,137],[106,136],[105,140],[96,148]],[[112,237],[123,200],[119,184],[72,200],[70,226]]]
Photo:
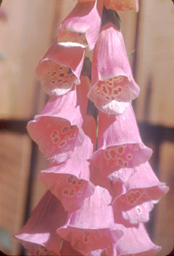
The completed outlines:
[[[107,23],[99,34],[92,61],[88,98],[107,114],[120,114],[139,94],[125,51],[122,33]]]

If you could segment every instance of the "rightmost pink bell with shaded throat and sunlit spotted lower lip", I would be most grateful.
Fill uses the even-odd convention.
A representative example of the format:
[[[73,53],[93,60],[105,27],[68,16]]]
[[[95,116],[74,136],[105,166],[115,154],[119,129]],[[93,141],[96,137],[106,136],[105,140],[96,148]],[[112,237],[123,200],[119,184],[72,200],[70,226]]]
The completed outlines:
[[[131,224],[149,220],[149,212],[161,197],[167,194],[168,187],[159,182],[149,162],[135,168],[136,172],[123,183],[123,192],[115,197],[112,207],[115,221],[123,219]],[[117,183],[112,185],[117,187]],[[121,212],[121,214],[120,214]]]

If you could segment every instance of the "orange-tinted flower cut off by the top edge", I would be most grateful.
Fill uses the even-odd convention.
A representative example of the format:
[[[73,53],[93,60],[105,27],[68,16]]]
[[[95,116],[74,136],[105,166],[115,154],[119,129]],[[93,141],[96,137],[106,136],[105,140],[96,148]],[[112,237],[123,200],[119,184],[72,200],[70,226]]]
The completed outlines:
[[[104,5],[107,9],[114,9],[115,11],[129,11],[131,9],[138,12],[138,0],[104,0]]]

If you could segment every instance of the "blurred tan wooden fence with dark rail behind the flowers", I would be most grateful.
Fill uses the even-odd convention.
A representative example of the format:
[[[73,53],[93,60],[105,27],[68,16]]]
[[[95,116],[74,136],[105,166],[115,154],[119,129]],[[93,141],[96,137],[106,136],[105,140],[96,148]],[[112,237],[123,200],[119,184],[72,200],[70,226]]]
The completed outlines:
[[[0,15],[0,249],[24,255],[12,238],[28,220],[46,188],[38,174],[48,162],[31,141],[26,125],[46,103],[35,75],[38,61],[57,36],[72,0],[4,0]],[[141,94],[133,103],[144,143],[152,147],[152,167],[170,186],[147,224],[158,256],[174,240],[174,5],[140,0],[140,12],[120,12],[133,75]]]

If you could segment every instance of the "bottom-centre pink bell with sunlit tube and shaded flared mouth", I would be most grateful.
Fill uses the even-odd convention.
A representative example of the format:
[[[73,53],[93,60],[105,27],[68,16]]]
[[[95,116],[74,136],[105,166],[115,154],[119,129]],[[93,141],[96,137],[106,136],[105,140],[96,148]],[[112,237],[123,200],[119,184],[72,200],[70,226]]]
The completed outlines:
[[[83,255],[111,245],[123,232],[115,226],[110,202],[108,191],[96,186],[94,194],[85,199],[79,210],[70,213],[66,225],[57,233]]]

